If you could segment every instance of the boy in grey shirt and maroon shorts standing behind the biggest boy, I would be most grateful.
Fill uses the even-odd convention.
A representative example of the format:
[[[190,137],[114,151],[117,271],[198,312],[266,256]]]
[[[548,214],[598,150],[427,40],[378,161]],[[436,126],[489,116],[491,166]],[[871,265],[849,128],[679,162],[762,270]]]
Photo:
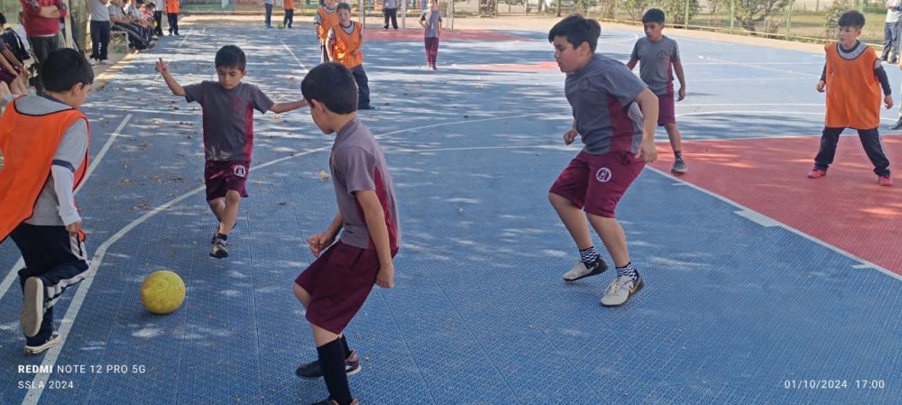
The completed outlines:
[[[679,79],[680,88],[676,94],[676,101],[680,101],[686,98],[683,64],[679,61],[676,41],[661,33],[664,30],[663,11],[657,8],[649,9],[642,16],[642,25],[645,27],[645,38],[636,41],[636,46],[633,47],[630,61],[626,66],[633,69],[636,67],[636,62],[642,62],[639,67],[639,76],[658,96],[658,126],[664,126],[664,129],[667,130],[670,147],[674,151],[674,166],[670,172],[678,176],[686,173],[687,169],[686,161],[683,161],[679,128],[676,127],[673,71],[676,71],[676,78]]]

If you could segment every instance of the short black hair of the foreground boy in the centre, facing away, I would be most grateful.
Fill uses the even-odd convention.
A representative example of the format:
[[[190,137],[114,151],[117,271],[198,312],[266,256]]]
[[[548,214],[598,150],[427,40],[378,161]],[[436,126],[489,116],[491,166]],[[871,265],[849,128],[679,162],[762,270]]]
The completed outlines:
[[[351,70],[341,63],[327,62],[310,69],[300,82],[300,92],[308,103],[317,100],[333,113],[357,111],[357,85]]]

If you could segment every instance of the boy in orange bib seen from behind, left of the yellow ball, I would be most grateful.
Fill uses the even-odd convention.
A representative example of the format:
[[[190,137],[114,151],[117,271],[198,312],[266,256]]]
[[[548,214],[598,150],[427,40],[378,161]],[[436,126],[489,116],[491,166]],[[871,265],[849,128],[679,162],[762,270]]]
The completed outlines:
[[[0,116],[0,242],[13,239],[25,262],[18,273],[26,354],[60,344],[53,304],[89,267],[74,190],[85,178],[90,137],[78,106],[94,72],[81,53],[64,48],[51,51],[41,77],[43,96],[15,98]]]

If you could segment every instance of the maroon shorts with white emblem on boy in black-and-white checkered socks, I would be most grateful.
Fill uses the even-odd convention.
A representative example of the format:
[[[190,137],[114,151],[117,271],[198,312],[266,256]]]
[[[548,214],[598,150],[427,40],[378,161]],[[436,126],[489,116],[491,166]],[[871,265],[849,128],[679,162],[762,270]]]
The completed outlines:
[[[645,162],[630,152],[594,155],[582,151],[548,192],[569,199],[589,214],[612,218],[617,201],[644,167]]]

